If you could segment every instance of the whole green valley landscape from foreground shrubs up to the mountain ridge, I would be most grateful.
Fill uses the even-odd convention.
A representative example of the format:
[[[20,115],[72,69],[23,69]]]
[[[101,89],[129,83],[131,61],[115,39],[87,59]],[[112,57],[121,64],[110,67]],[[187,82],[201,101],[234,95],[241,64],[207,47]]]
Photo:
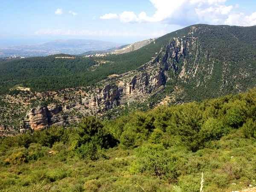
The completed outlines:
[[[255,37],[197,24],[118,50],[0,60],[0,191],[255,187]]]

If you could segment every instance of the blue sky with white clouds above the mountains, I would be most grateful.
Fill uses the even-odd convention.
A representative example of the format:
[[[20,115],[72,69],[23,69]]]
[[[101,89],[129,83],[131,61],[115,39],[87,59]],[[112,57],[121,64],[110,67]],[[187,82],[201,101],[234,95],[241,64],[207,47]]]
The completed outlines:
[[[130,44],[197,23],[256,25],[256,0],[0,0],[0,45]]]

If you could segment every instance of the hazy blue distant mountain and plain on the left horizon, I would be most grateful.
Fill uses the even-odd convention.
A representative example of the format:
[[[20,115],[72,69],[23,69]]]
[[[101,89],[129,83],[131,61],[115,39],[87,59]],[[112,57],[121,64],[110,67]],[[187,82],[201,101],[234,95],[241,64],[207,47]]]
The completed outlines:
[[[47,56],[58,53],[77,55],[85,51],[106,50],[124,44],[117,44],[108,41],[68,39],[55,40],[40,44],[0,46],[0,57],[33,57]]]

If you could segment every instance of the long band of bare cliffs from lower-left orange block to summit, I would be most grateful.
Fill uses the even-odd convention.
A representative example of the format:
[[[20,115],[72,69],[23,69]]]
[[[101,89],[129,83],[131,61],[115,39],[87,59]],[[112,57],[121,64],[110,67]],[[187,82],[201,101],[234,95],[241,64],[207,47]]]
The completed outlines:
[[[49,105],[47,108],[38,107],[29,111],[29,125],[33,130],[43,129],[49,125],[64,125],[79,122],[83,116],[104,113],[112,108],[126,103],[146,102],[151,96],[165,88],[166,82],[172,80],[172,75],[178,73],[183,65],[177,61],[189,50],[198,48],[196,38],[173,38],[161,49],[156,58],[128,73],[113,76],[91,86],[81,101],[64,105],[62,108]],[[196,62],[193,61],[193,63]],[[191,72],[190,75],[195,74]],[[175,75],[174,75],[175,76]],[[176,75],[177,76],[177,75]],[[177,78],[176,78],[177,79]],[[64,101],[68,99],[64,98]]]

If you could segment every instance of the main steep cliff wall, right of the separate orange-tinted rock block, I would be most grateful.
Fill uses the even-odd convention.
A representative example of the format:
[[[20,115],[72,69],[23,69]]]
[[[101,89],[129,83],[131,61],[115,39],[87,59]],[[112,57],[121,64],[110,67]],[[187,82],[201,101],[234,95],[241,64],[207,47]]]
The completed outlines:
[[[169,78],[169,70],[178,70],[175,60],[178,60],[186,52],[183,44],[189,41],[190,39],[185,41],[173,39],[158,54],[157,58],[137,70],[102,81],[100,82],[101,87],[99,84],[96,86],[100,88],[92,87],[87,96],[82,99],[82,104],[95,114],[125,103],[137,100],[143,102],[148,96],[152,96],[164,88]],[[175,60],[171,60],[170,57]]]

